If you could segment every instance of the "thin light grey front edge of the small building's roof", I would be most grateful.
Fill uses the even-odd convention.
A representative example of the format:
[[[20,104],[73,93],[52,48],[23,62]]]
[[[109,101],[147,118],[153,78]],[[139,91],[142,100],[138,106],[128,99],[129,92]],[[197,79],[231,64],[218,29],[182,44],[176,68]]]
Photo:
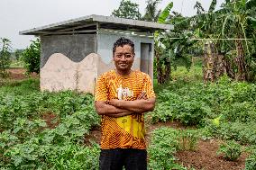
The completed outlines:
[[[162,24],[162,23],[157,23],[157,22],[144,22],[144,21],[139,21],[139,20],[131,20],[131,19],[124,19],[124,18],[116,18],[112,16],[103,16],[103,15],[88,15],[88,16],[83,16],[79,17],[76,19],[71,19],[67,20],[64,22],[56,22],[56,23],[51,23],[49,25],[33,28],[30,30],[25,30],[25,31],[19,31],[20,35],[26,35],[30,34],[32,35],[33,32],[35,31],[43,31],[46,29],[58,27],[60,25],[65,25],[73,22],[81,22],[81,21],[94,21],[94,22],[109,22],[109,23],[118,23],[118,24],[124,24],[124,25],[133,25],[133,26],[142,26],[145,28],[154,28],[154,29],[159,29],[159,30],[172,30],[173,25],[170,24]],[[38,33],[34,33],[38,34]]]

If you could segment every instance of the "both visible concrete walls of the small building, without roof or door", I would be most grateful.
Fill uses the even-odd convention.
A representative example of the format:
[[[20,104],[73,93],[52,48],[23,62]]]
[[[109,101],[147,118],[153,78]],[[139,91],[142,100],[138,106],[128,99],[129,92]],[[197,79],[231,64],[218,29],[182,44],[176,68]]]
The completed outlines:
[[[122,36],[100,32],[41,37],[41,90],[78,90],[94,94],[96,78],[105,71],[114,69],[113,44]],[[151,43],[153,47],[153,40],[127,34],[125,37],[133,40],[135,45],[133,69],[140,69],[141,44]],[[153,61],[151,59],[147,62],[152,77]]]

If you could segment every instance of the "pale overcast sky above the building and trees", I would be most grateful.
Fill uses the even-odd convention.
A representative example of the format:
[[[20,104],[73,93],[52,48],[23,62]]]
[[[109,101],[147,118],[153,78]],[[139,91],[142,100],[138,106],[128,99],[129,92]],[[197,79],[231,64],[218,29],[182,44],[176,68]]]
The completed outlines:
[[[131,0],[140,5],[140,12],[145,13],[146,0]],[[172,11],[191,16],[197,0],[172,0]],[[208,9],[211,0],[198,0]],[[24,49],[33,36],[19,35],[19,31],[55,22],[63,22],[90,14],[109,16],[117,9],[121,0],[0,0],[0,38],[12,41],[13,49]],[[163,9],[170,0],[162,0],[159,8]],[[218,6],[224,0],[218,0]]]

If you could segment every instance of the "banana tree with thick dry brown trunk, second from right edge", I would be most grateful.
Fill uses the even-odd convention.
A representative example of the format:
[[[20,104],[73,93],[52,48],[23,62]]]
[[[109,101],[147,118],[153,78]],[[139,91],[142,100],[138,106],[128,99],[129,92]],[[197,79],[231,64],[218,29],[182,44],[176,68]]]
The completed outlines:
[[[224,56],[220,55],[218,47],[221,41],[219,29],[221,20],[218,13],[215,12],[216,0],[211,2],[209,9],[206,11],[202,5],[197,2],[194,8],[197,8],[197,15],[189,18],[190,24],[194,31],[194,38],[203,39],[198,44],[204,47],[203,74],[205,82],[214,82],[225,72]],[[204,40],[206,39],[206,40]]]

